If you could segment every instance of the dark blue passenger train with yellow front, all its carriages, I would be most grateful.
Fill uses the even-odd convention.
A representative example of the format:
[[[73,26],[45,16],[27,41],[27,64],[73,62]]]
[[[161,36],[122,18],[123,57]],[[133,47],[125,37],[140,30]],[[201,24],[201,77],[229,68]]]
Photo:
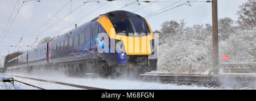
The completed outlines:
[[[100,33],[105,36],[99,39]],[[134,35],[128,36],[130,33]],[[134,40],[146,40],[146,44]],[[7,61],[5,70],[143,74],[157,70],[154,40],[154,33],[142,16],[123,10],[110,11]],[[115,46],[118,43],[121,49]]]

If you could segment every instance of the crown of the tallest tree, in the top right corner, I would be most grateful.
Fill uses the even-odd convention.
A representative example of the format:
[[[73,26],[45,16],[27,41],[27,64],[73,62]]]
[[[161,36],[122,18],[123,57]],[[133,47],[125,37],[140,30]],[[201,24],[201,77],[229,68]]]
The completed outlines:
[[[256,1],[248,0],[240,6],[237,11],[238,24],[242,28],[251,28],[256,26]]]

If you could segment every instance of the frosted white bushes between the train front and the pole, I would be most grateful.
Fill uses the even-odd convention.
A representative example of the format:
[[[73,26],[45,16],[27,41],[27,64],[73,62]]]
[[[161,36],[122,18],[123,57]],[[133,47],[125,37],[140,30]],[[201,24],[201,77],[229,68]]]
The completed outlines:
[[[164,22],[159,33],[159,64],[168,73],[202,73],[210,65],[210,26],[185,27],[184,20]],[[170,33],[167,33],[170,32]],[[200,70],[199,70],[200,69]]]

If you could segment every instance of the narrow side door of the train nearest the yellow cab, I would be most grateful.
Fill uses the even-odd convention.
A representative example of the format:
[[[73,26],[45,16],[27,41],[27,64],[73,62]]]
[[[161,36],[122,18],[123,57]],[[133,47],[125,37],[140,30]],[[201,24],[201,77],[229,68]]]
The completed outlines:
[[[98,34],[96,34],[96,25],[96,20],[92,21],[90,25],[90,53],[92,54],[92,58],[97,58],[97,41],[95,38],[98,36]]]

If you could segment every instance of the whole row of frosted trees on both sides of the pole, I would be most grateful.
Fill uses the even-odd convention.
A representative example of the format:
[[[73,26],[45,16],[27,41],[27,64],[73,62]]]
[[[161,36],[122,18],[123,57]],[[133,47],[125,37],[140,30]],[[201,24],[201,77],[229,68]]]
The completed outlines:
[[[218,20],[219,60],[256,62],[256,1],[240,6],[239,18]],[[236,25],[235,23],[238,23]],[[167,73],[207,73],[212,68],[212,25],[185,27],[180,22],[163,22],[159,33],[159,70]],[[229,61],[221,61],[228,55]],[[254,57],[254,58],[253,58]]]

